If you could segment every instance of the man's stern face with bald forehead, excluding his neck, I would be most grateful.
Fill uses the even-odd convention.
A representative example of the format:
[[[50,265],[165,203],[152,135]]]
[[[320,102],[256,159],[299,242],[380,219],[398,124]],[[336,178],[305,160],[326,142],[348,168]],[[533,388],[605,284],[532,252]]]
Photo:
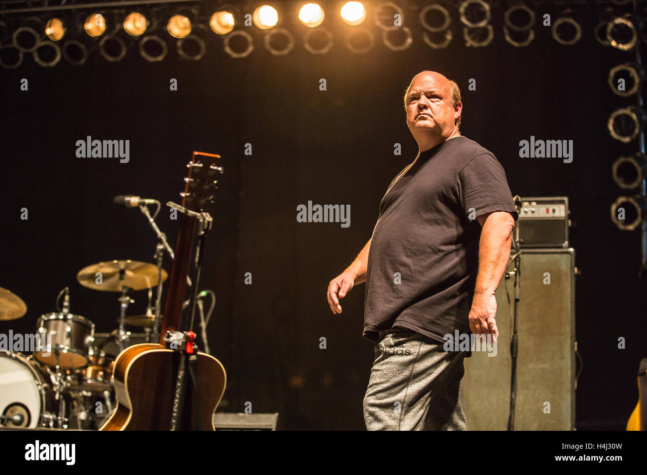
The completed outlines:
[[[424,134],[450,136],[454,132],[455,113],[447,78],[431,71],[413,78],[406,96],[406,122],[415,138]]]

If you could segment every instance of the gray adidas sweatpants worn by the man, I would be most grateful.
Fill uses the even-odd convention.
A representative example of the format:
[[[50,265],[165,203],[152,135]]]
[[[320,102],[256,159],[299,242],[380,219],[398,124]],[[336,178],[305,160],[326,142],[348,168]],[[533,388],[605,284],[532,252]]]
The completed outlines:
[[[368,430],[469,430],[463,410],[464,352],[396,327],[380,332],[366,396]]]

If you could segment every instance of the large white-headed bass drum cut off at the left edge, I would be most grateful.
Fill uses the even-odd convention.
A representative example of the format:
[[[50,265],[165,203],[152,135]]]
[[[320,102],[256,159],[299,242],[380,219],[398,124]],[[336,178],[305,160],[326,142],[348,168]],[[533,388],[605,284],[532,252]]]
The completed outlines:
[[[52,377],[36,361],[0,350],[0,427],[51,426]]]

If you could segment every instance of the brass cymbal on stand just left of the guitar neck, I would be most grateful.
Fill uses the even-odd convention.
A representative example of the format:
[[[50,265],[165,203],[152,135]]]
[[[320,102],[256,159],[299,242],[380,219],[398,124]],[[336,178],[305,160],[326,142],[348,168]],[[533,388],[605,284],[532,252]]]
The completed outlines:
[[[101,273],[100,284],[97,283],[97,273]],[[167,277],[168,273],[162,269],[162,282]],[[76,280],[83,287],[104,292],[120,292],[124,287],[144,290],[157,285],[157,266],[130,259],[99,262],[81,269]]]

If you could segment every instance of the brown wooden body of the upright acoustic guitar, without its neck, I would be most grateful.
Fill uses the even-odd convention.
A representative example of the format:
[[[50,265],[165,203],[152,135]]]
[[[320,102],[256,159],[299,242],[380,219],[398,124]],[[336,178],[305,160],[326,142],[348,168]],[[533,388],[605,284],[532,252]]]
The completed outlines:
[[[115,361],[117,408],[100,430],[168,430],[171,427],[178,352],[160,344],[136,344]],[[214,412],[225,393],[226,373],[214,357],[197,353],[199,394],[187,385],[182,430],[215,430]],[[187,368],[187,376],[188,368]],[[196,400],[200,400],[200,414]]]

